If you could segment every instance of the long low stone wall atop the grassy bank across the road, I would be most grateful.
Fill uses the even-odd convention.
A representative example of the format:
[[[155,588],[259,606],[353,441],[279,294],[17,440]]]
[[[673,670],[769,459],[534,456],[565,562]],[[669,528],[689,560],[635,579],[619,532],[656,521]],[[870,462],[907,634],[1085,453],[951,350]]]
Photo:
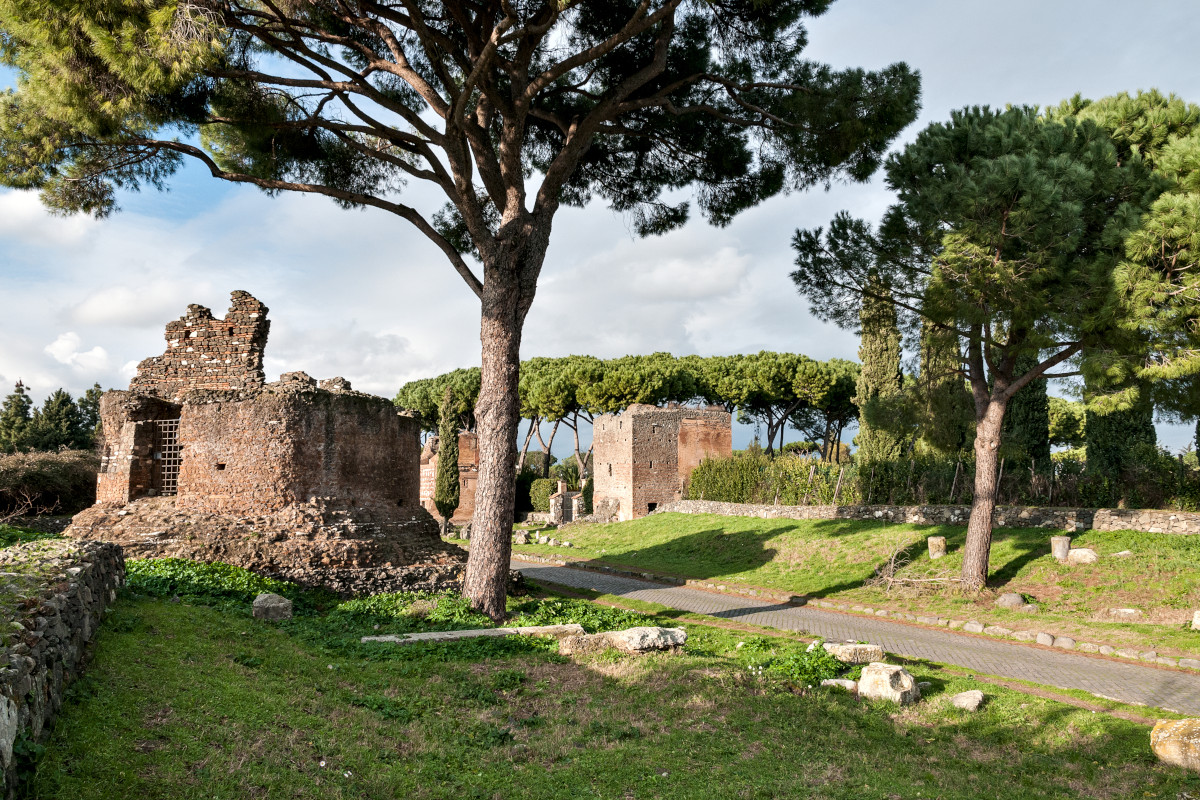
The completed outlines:
[[[714,513],[763,519],[884,519],[914,525],[965,525],[971,506],[774,506],[715,500],[676,500],[654,513]],[[1151,534],[1200,534],[1200,513],[1154,509],[1054,509],[997,506],[1001,528],[1055,530],[1144,530]]]

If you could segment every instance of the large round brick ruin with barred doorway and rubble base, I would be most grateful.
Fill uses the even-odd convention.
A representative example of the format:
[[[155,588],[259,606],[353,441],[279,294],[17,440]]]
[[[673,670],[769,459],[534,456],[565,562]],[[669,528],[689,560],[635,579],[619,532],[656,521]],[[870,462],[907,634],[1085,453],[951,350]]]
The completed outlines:
[[[341,594],[457,585],[466,553],[420,505],[416,421],[341,378],[268,384],[266,312],[245,291],[223,319],[190,306],[104,393],[96,505],[67,535]]]

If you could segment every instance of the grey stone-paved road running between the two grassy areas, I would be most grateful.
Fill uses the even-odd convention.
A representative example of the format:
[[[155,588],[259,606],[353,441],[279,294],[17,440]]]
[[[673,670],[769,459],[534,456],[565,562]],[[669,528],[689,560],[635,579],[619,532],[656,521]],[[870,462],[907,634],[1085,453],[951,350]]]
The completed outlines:
[[[888,652],[913,658],[956,664],[1043,686],[1078,688],[1177,714],[1200,715],[1200,674],[518,559],[512,560],[512,569],[544,583],[592,589],[750,625],[803,631],[830,640],[870,642]]]

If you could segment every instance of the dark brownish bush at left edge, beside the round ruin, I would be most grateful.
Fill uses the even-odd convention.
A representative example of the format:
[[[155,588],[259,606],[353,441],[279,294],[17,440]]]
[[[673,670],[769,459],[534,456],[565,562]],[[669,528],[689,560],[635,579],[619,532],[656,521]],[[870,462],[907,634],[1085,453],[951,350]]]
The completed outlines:
[[[26,500],[34,512],[74,513],[96,501],[100,458],[90,450],[0,456],[0,513]]]

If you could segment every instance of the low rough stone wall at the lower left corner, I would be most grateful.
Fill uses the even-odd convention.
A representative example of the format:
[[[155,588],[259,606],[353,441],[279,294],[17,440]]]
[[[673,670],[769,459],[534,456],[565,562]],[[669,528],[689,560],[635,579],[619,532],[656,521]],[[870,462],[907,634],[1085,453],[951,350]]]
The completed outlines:
[[[121,548],[42,540],[0,549],[0,765],[11,798],[13,744],[38,739],[80,673],[101,616],[125,582]]]

